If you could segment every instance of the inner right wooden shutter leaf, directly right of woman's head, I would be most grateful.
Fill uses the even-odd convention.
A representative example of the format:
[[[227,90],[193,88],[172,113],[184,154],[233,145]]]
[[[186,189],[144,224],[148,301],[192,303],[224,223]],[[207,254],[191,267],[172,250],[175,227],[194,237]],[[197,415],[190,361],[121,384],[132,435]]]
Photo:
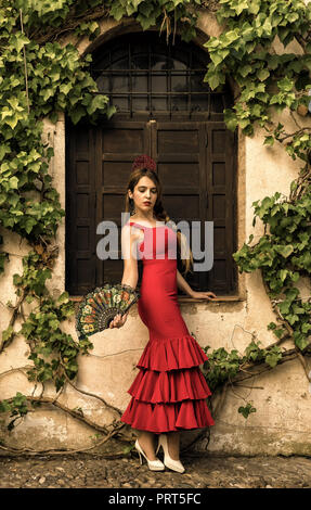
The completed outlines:
[[[152,155],[163,182],[164,206],[170,218],[202,222],[206,218],[205,124],[159,122],[152,125]],[[203,225],[200,225],[203,232]],[[190,246],[192,228],[190,228]],[[182,272],[183,266],[179,264]],[[203,289],[203,272],[187,273],[193,289]]]

